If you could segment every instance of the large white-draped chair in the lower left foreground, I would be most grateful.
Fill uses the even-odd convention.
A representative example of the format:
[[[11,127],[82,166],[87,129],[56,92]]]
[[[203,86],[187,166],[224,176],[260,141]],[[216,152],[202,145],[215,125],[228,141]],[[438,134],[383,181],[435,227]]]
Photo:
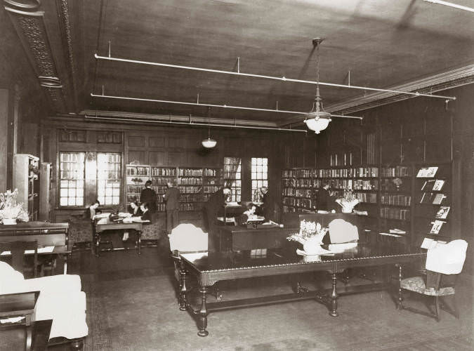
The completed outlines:
[[[3,295],[39,291],[32,321],[52,319],[48,345],[71,343],[81,350],[88,334],[86,293],[79,275],[60,274],[25,279],[8,263],[0,261],[0,302]]]

